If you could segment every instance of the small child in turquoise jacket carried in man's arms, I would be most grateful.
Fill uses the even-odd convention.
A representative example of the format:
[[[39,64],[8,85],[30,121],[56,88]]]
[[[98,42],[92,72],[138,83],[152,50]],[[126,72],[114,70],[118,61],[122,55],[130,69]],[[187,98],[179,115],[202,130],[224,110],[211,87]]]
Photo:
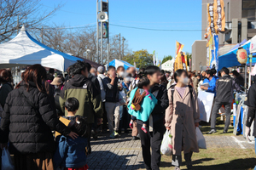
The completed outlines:
[[[143,121],[142,130],[147,132],[147,122],[154,106],[157,103],[154,95],[149,92],[149,80],[143,77],[139,80],[137,88],[131,91],[131,100],[128,104],[129,114],[131,115],[130,127],[133,127],[133,121],[136,119]]]

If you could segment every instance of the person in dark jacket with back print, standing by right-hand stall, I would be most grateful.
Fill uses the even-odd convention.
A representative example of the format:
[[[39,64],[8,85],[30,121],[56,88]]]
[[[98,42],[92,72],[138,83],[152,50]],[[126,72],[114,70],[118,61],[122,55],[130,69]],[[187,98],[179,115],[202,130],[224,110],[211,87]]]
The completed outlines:
[[[233,90],[241,90],[238,84],[229,76],[229,69],[223,67],[220,70],[221,77],[218,79],[216,83],[216,98],[214,105],[212,107],[212,116],[211,116],[211,131],[208,134],[216,133],[216,116],[218,114],[218,110],[222,105],[225,108],[225,126],[223,133],[228,133],[228,129],[230,126],[230,114],[231,114],[231,105],[233,101]]]

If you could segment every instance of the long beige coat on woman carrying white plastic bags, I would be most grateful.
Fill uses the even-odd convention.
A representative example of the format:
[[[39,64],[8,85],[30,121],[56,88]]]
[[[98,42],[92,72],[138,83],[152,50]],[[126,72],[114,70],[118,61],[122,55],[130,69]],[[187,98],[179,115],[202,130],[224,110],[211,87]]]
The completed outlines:
[[[166,127],[171,127],[173,155],[181,155],[181,151],[199,152],[195,137],[195,122],[200,122],[197,96],[193,90],[193,105],[189,87],[185,89],[183,99],[174,90],[172,105],[172,88],[168,90],[169,106],[166,109]]]

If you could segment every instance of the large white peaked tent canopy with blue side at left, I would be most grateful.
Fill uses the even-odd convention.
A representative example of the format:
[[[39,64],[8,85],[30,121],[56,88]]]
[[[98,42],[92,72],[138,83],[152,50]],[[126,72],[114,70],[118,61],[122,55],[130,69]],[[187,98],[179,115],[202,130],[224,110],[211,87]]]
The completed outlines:
[[[20,33],[9,42],[0,44],[0,68],[40,64],[66,71],[79,59],[49,48],[34,39],[22,26]]]

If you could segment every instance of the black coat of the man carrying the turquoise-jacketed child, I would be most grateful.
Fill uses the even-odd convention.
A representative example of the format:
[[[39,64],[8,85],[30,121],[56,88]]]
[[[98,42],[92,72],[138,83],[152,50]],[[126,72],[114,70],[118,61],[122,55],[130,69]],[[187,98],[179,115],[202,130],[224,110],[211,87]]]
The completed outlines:
[[[150,93],[153,95],[157,94],[156,96],[154,96],[157,99],[157,104],[154,106],[154,110],[151,113],[153,118],[153,124],[163,124],[165,119],[165,111],[169,104],[167,89],[160,84],[155,84],[154,87],[150,89]],[[140,120],[137,120],[137,123],[143,124],[143,122]]]

